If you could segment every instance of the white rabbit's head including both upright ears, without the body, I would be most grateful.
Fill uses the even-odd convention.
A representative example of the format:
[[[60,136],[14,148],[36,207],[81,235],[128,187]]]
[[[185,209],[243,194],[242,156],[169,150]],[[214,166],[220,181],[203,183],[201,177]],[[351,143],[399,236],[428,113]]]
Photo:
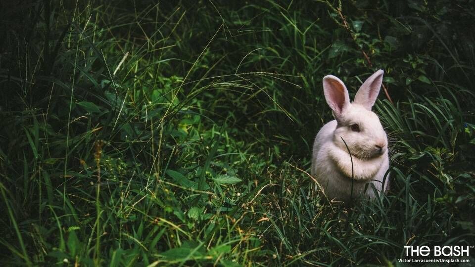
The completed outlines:
[[[333,142],[347,151],[344,139],[353,157],[372,159],[387,151],[387,137],[378,115],[371,111],[380,92],[383,71],[371,75],[358,89],[350,103],[348,90],[343,82],[332,75],[323,78],[323,89],[328,105],[337,122]]]

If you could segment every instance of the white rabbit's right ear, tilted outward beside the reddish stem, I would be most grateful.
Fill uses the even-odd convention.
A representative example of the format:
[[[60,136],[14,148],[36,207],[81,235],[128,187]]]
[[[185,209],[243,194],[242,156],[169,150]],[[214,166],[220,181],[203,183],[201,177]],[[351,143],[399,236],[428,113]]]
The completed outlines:
[[[356,92],[355,104],[360,104],[367,110],[371,111],[371,108],[375,104],[376,98],[378,98],[378,94],[380,93],[383,74],[383,70],[378,70],[373,73],[370,78],[366,79],[360,89]]]

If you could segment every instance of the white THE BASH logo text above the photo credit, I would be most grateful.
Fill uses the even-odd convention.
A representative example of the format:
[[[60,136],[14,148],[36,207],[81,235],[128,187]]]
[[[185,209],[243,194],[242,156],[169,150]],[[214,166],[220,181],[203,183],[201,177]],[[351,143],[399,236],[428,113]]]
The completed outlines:
[[[427,257],[430,255],[430,248],[428,246],[404,246],[406,249],[406,257]],[[434,246],[433,249],[434,257],[445,256],[445,257],[463,257],[469,256],[469,246]]]

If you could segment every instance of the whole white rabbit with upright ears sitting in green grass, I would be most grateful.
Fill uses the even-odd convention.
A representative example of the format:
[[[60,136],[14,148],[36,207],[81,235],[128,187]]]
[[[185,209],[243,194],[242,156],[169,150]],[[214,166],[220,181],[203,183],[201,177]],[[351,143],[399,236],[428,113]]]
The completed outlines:
[[[311,173],[329,200],[351,204],[351,197],[374,198],[375,191],[368,183],[374,184],[379,192],[382,186],[383,191],[387,190],[389,176],[383,184],[389,168],[387,137],[378,115],[371,111],[383,74],[378,70],[371,75],[358,89],[352,103],[340,79],[332,75],[323,78],[325,99],[335,120],[325,124],[315,137]]]

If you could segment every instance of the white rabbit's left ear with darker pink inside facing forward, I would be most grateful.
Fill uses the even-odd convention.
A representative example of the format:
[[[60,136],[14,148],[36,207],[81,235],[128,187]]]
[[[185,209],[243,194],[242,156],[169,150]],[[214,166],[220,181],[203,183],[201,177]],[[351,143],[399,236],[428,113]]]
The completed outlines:
[[[333,115],[338,120],[350,103],[348,90],[340,79],[333,75],[327,75],[323,78],[323,92],[328,105],[333,110]]]

